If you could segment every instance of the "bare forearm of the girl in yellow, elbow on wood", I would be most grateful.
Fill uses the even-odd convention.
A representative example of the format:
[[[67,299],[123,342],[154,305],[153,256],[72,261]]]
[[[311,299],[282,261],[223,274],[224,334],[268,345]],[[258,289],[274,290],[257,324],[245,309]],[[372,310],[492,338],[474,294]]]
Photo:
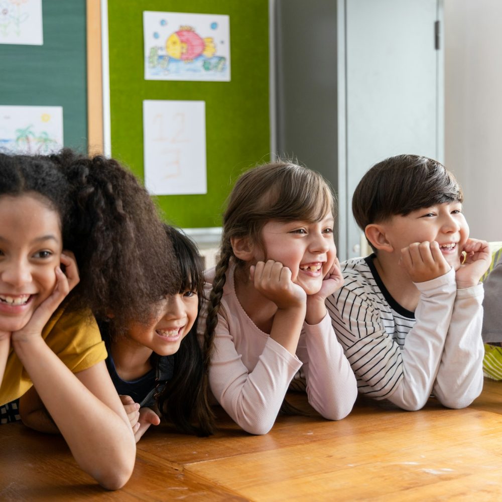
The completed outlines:
[[[122,485],[134,466],[136,442],[127,416],[120,415],[123,407],[118,396],[120,408],[113,410],[79,381],[42,338],[16,343],[15,350],[75,460],[103,486]],[[116,471],[110,468],[113,464]]]

